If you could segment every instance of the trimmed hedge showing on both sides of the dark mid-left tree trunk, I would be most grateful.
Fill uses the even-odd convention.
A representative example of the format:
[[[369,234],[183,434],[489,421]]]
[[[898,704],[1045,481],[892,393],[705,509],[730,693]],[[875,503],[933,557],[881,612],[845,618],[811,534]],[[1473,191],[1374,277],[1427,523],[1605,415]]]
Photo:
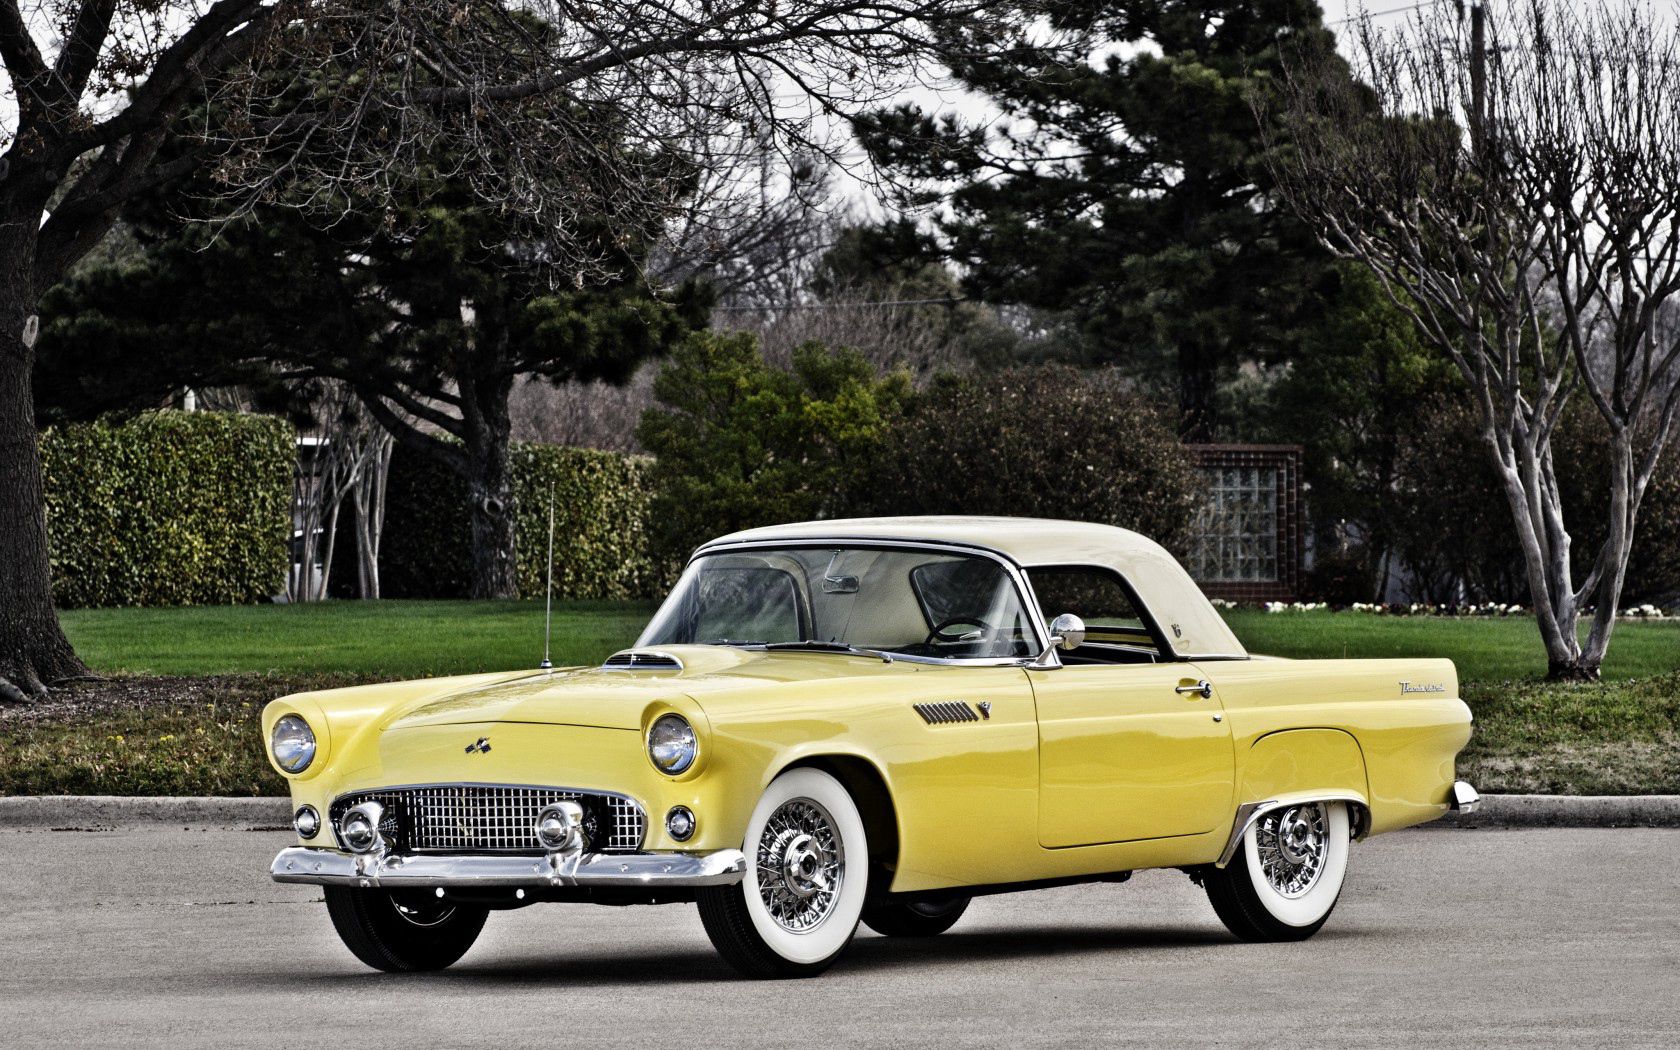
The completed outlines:
[[[519,593],[543,595],[553,486],[554,596],[659,596],[669,570],[648,553],[650,465],[652,460],[642,455],[514,442]],[[465,598],[470,583],[465,480],[398,447],[385,489],[380,593],[386,598]]]

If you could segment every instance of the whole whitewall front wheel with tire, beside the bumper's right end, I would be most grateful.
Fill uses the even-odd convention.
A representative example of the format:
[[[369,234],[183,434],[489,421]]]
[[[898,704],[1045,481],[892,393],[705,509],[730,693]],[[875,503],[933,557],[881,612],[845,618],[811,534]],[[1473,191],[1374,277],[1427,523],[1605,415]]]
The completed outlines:
[[[805,978],[852,942],[869,890],[857,803],[822,769],[783,773],[746,825],[746,877],[699,892],[717,954],[749,978]]]

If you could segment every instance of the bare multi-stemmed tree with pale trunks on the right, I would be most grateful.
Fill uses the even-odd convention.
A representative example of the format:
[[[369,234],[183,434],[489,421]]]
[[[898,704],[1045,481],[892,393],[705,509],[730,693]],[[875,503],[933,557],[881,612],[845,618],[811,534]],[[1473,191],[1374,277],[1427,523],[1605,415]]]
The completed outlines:
[[[1280,192],[1452,358],[1504,480],[1554,677],[1598,677],[1640,501],[1680,408],[1680,37],[1643,5],[1436,3],[1300,64]],[[1591,402],[1606,539],[1571,551],[1552,433]],[[1583,643],[1578,620],[1591,613]]]

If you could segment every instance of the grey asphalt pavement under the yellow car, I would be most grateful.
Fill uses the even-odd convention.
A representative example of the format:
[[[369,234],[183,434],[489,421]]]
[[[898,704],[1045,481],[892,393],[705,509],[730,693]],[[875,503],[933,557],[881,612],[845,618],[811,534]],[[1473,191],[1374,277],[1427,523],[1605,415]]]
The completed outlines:
[[[1680,830],[1356,847],[1302,944],[1240,944],[1176,872],[976,900],[756,983],[690,906],[492,914],[442,974],[365,969],[279,830],[0,828],[0,1045],[1680,1047]]]

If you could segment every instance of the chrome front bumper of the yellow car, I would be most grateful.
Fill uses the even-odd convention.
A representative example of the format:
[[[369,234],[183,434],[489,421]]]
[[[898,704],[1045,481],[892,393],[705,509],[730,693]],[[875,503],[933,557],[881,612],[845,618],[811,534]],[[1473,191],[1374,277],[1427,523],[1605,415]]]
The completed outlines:
[[[741,850],[716,853],[581,853],[486,857],[475,853],[344,853],[291,847],[269,869],[276,882],[365,889],[662,887],[734,885],[746,877]]]

